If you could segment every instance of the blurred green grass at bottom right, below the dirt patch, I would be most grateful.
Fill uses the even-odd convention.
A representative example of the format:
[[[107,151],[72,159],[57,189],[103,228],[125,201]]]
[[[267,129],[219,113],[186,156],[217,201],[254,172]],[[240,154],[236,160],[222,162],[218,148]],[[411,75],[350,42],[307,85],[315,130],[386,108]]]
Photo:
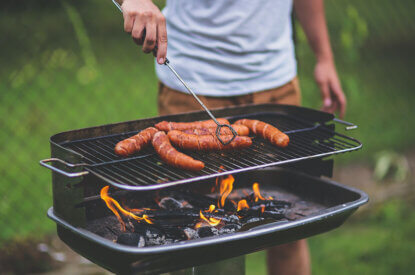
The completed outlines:
[[[391,201],[370,215],[309,239],[313,274],[413,274],[414,206]],[[247,275],[266,274],[265,252],[250,254]]]

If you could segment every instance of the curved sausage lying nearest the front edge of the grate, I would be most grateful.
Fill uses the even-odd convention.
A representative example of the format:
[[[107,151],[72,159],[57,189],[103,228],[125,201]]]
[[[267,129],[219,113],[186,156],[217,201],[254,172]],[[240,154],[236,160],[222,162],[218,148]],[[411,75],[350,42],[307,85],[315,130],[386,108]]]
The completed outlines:
[[[160,158],[171,166],[190,171],[199,171],[205,167],[203,162],[177,151],[162,131],[154,135],[152,144]]]

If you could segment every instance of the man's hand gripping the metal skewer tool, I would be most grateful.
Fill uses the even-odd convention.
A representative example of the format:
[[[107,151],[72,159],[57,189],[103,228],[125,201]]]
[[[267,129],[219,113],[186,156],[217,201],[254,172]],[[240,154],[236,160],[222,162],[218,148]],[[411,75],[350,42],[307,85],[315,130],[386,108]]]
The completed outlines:
[[[166,19],[151,0],[124,0],[121,5],[124,30],[135,43],[150,53],[157,45],[157,62],[163,64],[167,55]]]

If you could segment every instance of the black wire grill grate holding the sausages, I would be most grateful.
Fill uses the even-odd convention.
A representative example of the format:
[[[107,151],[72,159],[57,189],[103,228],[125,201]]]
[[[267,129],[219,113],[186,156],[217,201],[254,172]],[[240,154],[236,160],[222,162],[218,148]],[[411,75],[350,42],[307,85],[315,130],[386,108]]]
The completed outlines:
[[[85,168],[109,184],[128,190],[152,190],[221,175],[323,157],[359,149],[357,140],[335,133],[319,124],[292,116],[264,113],[244,116],[270,123],[290,136],[286,148],[278,148],[255,137],[250,148],[229,152],[184,152],[205,163],[202,171],[190,172],[164,164],[149,146],[139,154],[122,158],[114,154],[120,140],[137,132],[70,141],[61,144],[80,153]],[[233,117],[235,121],[240,117]]]

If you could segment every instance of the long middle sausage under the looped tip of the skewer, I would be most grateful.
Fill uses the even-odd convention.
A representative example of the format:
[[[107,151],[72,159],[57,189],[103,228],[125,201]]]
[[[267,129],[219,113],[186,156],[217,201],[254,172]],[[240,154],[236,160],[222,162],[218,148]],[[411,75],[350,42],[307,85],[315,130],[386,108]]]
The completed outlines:
[[[197,136],[186,134],[178,130],[169,131],[168,137],[171,143],[185,150],[231,150],[242,149],[252,145],[252,140],[250,137],[236,136],[231,143],[223,145],[215,135]],[[221,139],[226,142],[232,139],[232,137],[232,135],[222,135]]]

